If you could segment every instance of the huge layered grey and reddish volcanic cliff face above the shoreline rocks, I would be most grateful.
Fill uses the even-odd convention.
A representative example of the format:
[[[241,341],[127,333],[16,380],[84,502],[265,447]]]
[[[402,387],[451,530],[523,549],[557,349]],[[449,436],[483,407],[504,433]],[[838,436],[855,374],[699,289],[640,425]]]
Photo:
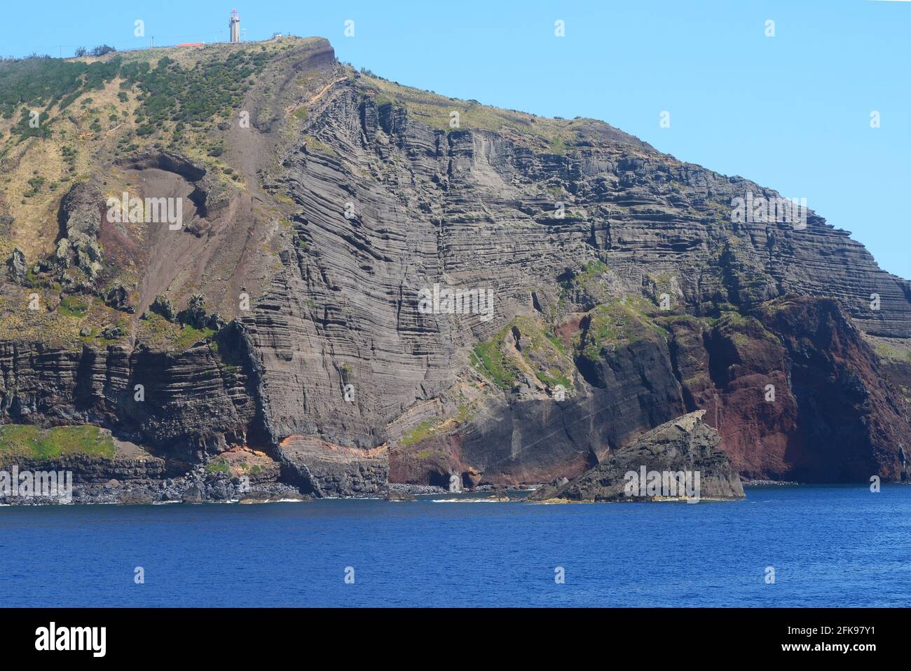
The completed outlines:
[[[911,284],[849,233],[736,221],[778,194],[599,121],[404,88],[322,39],[246,48],[118,65],[159,128],[99,136],[50,221],[13,217],[5,422],[187,462],[247,445],[335,495],[572,478],[704,409],[746,477],[906,479]],[[216,67],[249,69],[226,111],[155,102]],[[186,225],[108,222],[119,191],[182,198]]]

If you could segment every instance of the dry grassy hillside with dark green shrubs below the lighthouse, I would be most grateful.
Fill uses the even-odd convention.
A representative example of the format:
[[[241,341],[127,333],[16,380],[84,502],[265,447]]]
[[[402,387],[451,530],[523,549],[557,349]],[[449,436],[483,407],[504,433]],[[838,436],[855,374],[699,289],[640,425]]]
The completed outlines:
[[[0,61],[0,214],[15,221],[0,248],[17,245],[30,262],[50,253],[61,195],[86,180],[106,152],[125,155],[157,143],[242,186],[219,162],[219,131],[230,127],[274,53],[290,48],[289,40]]]

